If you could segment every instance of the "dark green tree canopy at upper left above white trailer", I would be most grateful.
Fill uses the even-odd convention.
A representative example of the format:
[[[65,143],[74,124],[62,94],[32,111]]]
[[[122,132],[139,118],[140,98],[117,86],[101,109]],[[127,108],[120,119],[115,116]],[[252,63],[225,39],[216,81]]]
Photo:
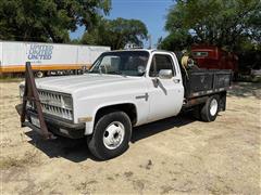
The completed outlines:
[[[67,42],[77,26],[91,29],[110,0],[0,0],[0,39]]]

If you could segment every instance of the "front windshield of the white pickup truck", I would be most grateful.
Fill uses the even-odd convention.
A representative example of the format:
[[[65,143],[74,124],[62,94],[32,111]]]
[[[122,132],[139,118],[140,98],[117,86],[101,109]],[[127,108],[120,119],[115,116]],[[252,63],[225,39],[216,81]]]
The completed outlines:
[[[107,52],[99,56],[89,73],[142,76],[148,58],[147,51]]]

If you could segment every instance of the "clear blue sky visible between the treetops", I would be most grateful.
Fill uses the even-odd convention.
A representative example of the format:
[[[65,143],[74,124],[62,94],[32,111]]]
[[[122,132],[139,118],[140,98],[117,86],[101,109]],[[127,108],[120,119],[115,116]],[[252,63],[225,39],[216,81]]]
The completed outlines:
[[[149,35],[152,37],[152,46],[154,46],[160,37],[167,35],[164,30],[165,17],[167,9],[173,4],[173,0],[112,0],[112,10],[105,17],[140,20],[146,24]],[[84,27],[79,27],[71,34],[71,38],[80,38],[84,30]],[[145,42],[145,47],[148,44],[149,42]]]

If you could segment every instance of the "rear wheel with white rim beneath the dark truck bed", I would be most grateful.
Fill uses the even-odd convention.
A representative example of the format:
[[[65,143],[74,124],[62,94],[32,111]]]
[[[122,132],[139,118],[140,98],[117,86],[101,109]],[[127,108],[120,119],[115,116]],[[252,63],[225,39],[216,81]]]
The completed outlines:
[[[210,96],[201,108],[201,119],[207,122],[214,121],[219,114],[219,95]]]

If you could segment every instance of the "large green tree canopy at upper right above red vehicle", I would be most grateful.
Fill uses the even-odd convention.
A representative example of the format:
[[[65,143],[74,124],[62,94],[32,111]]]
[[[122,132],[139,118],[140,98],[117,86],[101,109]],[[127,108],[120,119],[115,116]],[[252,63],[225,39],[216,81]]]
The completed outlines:
[[[182,38],[187,43],[181,46],[192,40],[238,51],[249,47],[245,43],[261,43],[261,1],[176,0],[169,10],[165,29],[170,36],[162,41],[164,49],[173,49]]]

